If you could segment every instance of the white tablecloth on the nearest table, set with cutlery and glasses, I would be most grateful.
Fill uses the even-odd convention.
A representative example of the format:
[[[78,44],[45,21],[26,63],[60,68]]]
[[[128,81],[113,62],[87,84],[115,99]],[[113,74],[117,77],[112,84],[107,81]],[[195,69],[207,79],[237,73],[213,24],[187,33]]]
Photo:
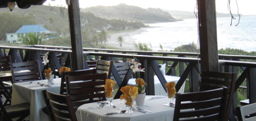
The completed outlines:
[[[146,96],[146,98],[150,98],[154,96]],[[113,100],[113,104],[117,107],[121,107],[121,110],[126,110],[124,100],[115,99]],[[93,110],[86,110],[88,107],[99,106],[97,102],[84,104],[78,108],[76,111],[76,117],[81,121],[135,121],[135,120],[159,120],[159,121],[169,121],[173,119],[174,116],[174,108],[164,106],[165,102],[169,102],[167,96],[165,98],[160,99],[145,99],[144,105],[140,105],[138,107],[143,108],[145,110],[152,111],[151,113],[142,113],[138,111],[134,111],[133,113],[123,113],[123,114],[113,114],[110,116],[104,116],[104,113],[121,111],[118,108],[104,106],[103,108],[95,108]],[[133,107],[137,107],[136,102],[133,102]],[[137,109],[137,108],[136,108]]]

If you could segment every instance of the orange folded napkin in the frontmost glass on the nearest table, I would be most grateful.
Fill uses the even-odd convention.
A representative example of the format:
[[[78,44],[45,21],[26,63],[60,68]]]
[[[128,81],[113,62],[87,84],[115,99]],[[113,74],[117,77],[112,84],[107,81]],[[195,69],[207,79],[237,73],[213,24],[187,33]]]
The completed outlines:
[[[123,95],[120,96],[120,99],[125,99],[125,105],[131,106],[134,99],[138,94],[138,87],[132,87],[130,85],[124,86],[120,89],[123,92]]]

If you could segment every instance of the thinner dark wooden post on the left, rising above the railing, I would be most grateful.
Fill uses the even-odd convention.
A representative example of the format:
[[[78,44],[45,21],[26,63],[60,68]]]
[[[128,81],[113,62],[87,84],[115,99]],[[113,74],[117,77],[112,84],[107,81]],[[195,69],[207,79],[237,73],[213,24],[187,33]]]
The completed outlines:
[[[80,22],[79,0],[71,0],[70,5],[68,5],[68,11],[72,46],[71,69],[82,70],[85,69],[85,66],[82,49],[82,32]]]

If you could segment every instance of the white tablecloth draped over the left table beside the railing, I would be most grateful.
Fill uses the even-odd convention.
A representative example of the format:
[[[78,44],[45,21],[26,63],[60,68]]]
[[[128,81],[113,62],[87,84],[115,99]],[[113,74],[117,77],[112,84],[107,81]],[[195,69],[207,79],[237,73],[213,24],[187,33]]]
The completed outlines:
[[[46,83],[46,80],[32,81],[31,84],[29,82],[14,83],[12,105],[29,102],[30,120],[49,120],[47,114],[44,114],[42,111],[42,108],[45,106],[42,90],[47,89],[50,92],[59,94],[60,80],[61,78],[54,78],[53,83],[55,84],[51,84],[52,87],[40,86],[37,83]]]

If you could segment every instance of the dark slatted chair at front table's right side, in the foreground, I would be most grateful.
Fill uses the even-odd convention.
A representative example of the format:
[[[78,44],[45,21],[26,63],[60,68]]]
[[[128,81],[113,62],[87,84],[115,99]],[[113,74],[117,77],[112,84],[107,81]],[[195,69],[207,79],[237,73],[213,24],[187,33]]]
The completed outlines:
[[[227,87],[201,92],[176,93],[174,121],[183,119],[187,121],[223,121],[226,100]]]

